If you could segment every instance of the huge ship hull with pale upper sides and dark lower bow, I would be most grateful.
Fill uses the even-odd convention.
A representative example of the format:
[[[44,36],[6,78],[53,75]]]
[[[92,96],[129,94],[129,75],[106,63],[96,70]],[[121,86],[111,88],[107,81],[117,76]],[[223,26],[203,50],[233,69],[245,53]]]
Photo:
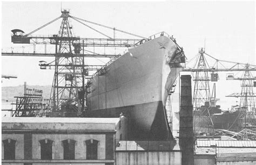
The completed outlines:
[[[131,135],[124,139],[172,139],[165,105],[181,63],[185,63],[183,48],[164,32],[129,49],[88,81],[87,115],[127,116]]]

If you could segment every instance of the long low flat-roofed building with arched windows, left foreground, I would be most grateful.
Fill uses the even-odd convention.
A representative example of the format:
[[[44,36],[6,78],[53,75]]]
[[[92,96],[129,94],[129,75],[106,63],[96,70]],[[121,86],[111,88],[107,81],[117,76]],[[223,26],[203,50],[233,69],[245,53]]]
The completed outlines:
[[[114,164],[120,118],[2,118],[2,164]]]

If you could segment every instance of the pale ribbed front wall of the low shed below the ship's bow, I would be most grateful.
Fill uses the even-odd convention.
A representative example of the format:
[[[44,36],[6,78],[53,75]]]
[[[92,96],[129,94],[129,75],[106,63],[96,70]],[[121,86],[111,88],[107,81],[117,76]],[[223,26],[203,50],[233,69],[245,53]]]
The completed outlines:
[[[116,164],[181,164],[181,152],[116,152]]]

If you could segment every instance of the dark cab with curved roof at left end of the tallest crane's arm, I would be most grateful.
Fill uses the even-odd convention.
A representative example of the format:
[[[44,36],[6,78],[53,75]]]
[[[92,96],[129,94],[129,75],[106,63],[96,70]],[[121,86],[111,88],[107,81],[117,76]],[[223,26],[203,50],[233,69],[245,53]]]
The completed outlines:
[[[11,42],[14,44],[30,44],[30,37],[26,37],[24,31],[14,29],[11,31]]]

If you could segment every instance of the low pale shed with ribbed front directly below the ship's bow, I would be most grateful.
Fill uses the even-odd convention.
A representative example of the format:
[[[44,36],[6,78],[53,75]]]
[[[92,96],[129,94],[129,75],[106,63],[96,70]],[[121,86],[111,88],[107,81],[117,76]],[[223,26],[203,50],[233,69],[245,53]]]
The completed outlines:
[[[116,164],[181,164],[181,150],[176,141],[119,141]]]

